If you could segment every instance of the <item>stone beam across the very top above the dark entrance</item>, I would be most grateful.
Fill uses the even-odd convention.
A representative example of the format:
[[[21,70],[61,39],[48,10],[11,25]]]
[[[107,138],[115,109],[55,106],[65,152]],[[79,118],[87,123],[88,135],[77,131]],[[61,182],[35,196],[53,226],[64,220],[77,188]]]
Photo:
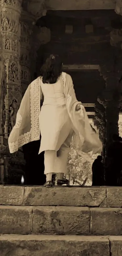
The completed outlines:
[[[58,11],[58,15],[62,10],[67,11],[67,15],[71,10],[114,10],[117,14],[122,15],[121,0],[22,0],[22,8],[35,16],[36,20],[45,16],[49,10]],[[72,15],[74,14],[72,13]]]

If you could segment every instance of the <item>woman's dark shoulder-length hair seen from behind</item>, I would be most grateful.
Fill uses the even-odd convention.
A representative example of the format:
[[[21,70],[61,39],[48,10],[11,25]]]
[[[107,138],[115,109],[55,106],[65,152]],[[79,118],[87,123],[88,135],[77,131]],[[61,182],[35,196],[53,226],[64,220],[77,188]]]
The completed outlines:
[[[62,61],[58,55],[51,54],[41,67],[42,82],[54,84],[62,73]]]

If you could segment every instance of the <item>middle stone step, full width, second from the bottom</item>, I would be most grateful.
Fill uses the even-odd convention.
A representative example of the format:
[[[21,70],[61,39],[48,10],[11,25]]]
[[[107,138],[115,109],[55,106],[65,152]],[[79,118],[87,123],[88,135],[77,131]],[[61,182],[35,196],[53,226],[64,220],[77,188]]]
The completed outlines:
[[[122,235],[122,209],[0,206],[2,234]]]

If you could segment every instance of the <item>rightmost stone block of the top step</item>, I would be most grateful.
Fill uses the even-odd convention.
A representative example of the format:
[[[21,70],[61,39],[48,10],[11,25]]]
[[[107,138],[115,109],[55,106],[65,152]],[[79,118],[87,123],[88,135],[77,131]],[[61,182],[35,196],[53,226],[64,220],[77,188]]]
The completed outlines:
[[[122,208],[122,187],[108,187],[107,189],[107,207]]]

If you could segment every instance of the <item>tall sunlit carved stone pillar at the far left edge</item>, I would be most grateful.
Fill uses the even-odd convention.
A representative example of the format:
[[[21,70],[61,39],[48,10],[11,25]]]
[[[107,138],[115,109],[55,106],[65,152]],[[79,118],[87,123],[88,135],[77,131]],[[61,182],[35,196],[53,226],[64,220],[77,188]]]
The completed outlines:
[[[2,52],[4,59],[4,79],[3,87],[6,88],[3,92],[2,103],[2,132],[3,137],[0,142],[0,151],[2,161],[0,163],[1,182],[4,183],[4,176],[8,175],[8,135],[15,124],[16,113],[21,102],[21,86],[20,86],[20,33],[21,27],[19,18],[21,15],[21,0],[1,0],[1,32],[2,32]],[[0,48],[0,49],[1,49]],[[4,74],[4,72],[3,72]],[[2,84],[1,84],[2,85]],[[6,85],[6,86],[5,86]],[[13,161],[14,155],[11,156]],[[19,166],[21,169],[21,164]]]

